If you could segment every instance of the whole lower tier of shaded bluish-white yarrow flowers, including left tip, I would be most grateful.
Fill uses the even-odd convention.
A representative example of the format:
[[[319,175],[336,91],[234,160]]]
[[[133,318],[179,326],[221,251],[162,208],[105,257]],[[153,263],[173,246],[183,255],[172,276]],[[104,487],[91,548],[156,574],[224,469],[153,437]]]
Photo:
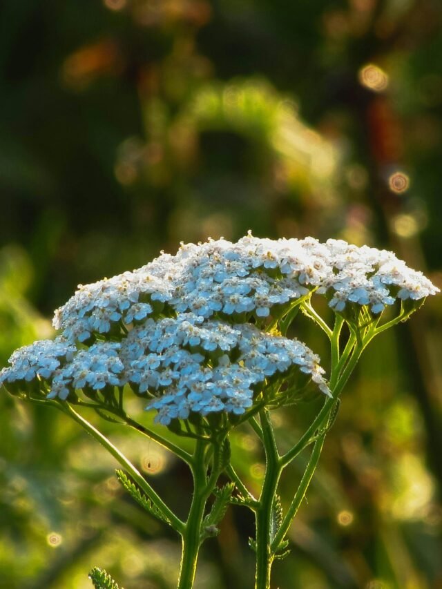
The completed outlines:
[[[232,327],[193,313],[134,327],[121,344],[97,342],[78,349],[62,340],[36,342],[15,352],[0,383],[39,378],[48,398],[66,399],[75,389],[129,383],[153,400],[157,421],[188,418],[191,411],[242,414],[256,385],[294,368],[329,394],[319,358],[297,340],[265,334],[253,325]]]

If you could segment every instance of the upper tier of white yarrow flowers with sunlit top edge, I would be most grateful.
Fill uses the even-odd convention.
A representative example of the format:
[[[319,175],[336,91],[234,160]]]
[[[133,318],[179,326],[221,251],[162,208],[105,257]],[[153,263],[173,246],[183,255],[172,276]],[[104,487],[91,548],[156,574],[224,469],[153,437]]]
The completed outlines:
[[[390,251],[342,240],[322,244],[313,238],[269,240],[249,234],[237,243],[182,245],[174,256],[163,253],[138,270],[81,286],[56,311],[54,325],[69,340],[85,341],[120,322],[137,325],[155,318],[164,304],[175,313],[247,320],[267,317],[274,305],[313,290],[327,294],[334,311],[356,303],[372,313],[396,299],[417,300],[438,291]]]

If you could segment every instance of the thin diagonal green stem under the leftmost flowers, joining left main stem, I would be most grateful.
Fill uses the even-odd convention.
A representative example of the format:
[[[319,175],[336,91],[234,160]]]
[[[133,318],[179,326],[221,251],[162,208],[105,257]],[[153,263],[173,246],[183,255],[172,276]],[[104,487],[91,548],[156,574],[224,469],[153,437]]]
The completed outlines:
[[[137,485],[142,489],[142,491],[148,496],[148,498],[152,501],[153,505],[157,508],[158,511],[164,516],[166,520],[171,523],[171,526],[174,530],[179,533],[182,533],[184,530],[184,523],[167,507],[166,503],[162,501],[159,495],[153,490],[151,485],[148,484],[144,476],[137,470],[137,468],[131,463],[131,461],[122,454],[118,450],[117,447],[111,443],[111,441],[106,438],[101,432],[98,431],[91,423],[86,421],[80,414],[78,414],[70,405],[64,402],[60,402],[57,405],[62,412],[66,413],[70,418],[76,421],[83,429],[86,429],[95,440],[97,440],[106,450],[111,454],[119,464],[124,467],[127,472],[131,475],[133,481],[137,483]]]

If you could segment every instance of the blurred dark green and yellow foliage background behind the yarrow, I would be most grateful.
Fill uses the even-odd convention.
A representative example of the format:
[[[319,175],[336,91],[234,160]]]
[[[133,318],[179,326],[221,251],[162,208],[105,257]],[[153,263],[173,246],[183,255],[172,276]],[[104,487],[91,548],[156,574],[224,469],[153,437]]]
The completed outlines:
[[[441,287],[439,1],[5,0],[0,18],[0,365],[52,336],[77,283],[180,240],[343,238]],[[442,587],[441,324],[435,297],[366,352],[275,587]],[[86,589],[97,565],[126,589],[173,588],[180,545],[104,450],[52,409],[0,405],[0,587]],[[283,444],[313,409],[276,415]],[[171,504],[190,494],[154,443],[100,427]],[[234,445],[256,487],[251,432]],[[200,589],[253,586],[251,534],[230,510]]]

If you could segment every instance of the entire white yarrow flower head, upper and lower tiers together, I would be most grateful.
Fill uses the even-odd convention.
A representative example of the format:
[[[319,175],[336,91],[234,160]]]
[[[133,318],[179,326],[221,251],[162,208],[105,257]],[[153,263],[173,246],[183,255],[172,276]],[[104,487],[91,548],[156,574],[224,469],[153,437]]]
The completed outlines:
[[[396,300],[438,289],[388,251],[325,244],[209,240],[79,287],[55,312],[61,335],[16,351],[0,384],[37,380],[48,398],[130,387],[150,398],[157,421],[191,412],[243,414],[276,374],[303,373],[329,394],[319,358],[302,342],[264,331],[312,293],[329,307],[375,316]]]

